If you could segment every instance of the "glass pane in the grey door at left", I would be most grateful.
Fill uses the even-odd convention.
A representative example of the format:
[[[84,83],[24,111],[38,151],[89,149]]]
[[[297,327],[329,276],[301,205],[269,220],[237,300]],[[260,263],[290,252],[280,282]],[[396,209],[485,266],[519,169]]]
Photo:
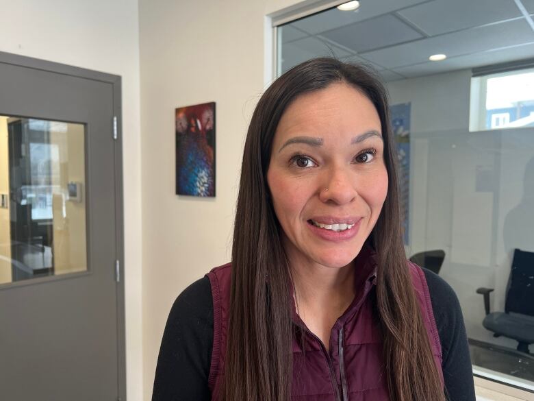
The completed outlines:
[[[0,116],[0,284],[87,269],[85,125]]]

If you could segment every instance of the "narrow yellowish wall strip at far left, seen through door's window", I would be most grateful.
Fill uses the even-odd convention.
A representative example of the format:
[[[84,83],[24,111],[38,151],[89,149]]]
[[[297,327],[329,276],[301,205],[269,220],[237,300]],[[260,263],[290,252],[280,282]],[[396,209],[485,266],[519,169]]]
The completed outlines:
[[[0,116],[0,193],[10,193],[8,117]],[[0,208],[0,284],[11,282],[10,210]]]

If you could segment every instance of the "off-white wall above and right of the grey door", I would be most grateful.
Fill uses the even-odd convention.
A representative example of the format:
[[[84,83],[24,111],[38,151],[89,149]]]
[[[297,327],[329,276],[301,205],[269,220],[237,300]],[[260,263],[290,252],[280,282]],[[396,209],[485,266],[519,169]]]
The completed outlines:
[[[142,399],[137,0],[0,0],[0,51],[122,76],[127,397]]]

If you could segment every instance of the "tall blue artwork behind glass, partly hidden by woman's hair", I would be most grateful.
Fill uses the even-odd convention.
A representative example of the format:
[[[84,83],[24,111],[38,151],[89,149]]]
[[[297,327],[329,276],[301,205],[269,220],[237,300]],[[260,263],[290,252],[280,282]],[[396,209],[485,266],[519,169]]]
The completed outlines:
[[[391,123],[397,145],[398,180],[401,196],[404,243],[409,245],[409,193],[410,193],[410,104],[390,106]]]

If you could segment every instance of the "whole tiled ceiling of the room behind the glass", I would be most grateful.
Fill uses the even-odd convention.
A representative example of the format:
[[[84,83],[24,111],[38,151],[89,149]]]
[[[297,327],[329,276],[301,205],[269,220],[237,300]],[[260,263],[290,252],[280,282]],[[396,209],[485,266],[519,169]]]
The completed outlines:
[[[360,4],[356,11],[333,8],[283,25],[282,70],[333,55],[371,63],[391,81],[534,58],[534,0],[360,0]],[[448,58],[429,61],[435,53]]]

